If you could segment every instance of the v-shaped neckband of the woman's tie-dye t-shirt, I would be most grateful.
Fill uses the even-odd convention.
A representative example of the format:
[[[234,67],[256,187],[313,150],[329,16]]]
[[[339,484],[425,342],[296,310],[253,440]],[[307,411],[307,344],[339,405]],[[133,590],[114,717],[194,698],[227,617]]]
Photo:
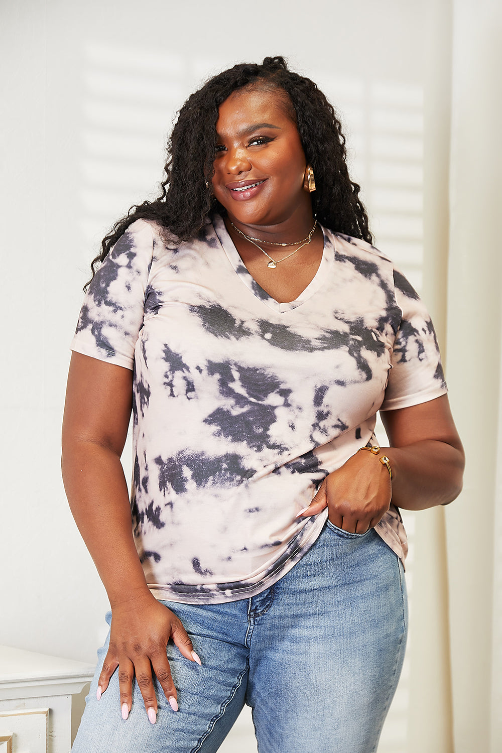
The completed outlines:
[[[291,300],[287,303],[279,303],[278,300],[275,300],[275,298],[273,298],[269,293],[267,293],[266,290],[263,290],[263,288],[260,285],[258,285],[257,281],[248,271],[248,268],[245,266],[244,262],[242,261],[239,255],[239,252],[237,251],[236,245],[231,239],[230,234],[227,230],[227,227],[225,227],[223,218],[221,218],[220,215],[214,216],[213,227],[214,227],[214,232],[218,236],[218,240],[220,241],[224,249],[224,252],[227,255],[227,258],[230,261],[230,264],[232,264],[239,279],[241,279],[241,281],[245,284],[246,288],[248,288],[248,290],[250,290],[251,293],[255,297],[257,297],[258,300],[261,301],[261,303],[264,303],[266,306],[269,306],[270,309],[273,309],[275,312],[278,312],[279,314],[283,314],[285,312],[291,311],[292,309],[296,309],[297,306],[301,306],[302,303],[305,303],[306,300],[309,300],[309,298],[311,298],[312,295],[317,293],[319,288],[321,288],[321,286],[324,285],[324,282],[327,279],[327,273],[331,265],[333,264],[334,255],[335,255],[335,248],[334,248],[333,242],[330,239],[330,236],[327,235],[327,232],[324,229],[324,227],[320,226],[323,232],[323,236],[324,236],[324,248],[322,252],[321,263],[319,264],[317,272],[312,277],[312,280],[309,282],[309,285],[307,285],[306,288],[304,288],[304,290],[300,293],[299,296],[297,296],[294,300]]]

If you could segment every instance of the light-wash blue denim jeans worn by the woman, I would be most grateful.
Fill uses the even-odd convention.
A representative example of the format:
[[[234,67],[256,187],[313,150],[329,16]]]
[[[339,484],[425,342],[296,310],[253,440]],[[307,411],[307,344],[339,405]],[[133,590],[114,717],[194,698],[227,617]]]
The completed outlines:
[[[151,724],[135,684],[123,721],[117,672],[96,700],[107,639],[72,753],[213,753],[245,703],[260,753],[376,751],[403,663],[407,605],[403,566],[373,529],[352,534],[328,521],[303,559],[251,599],[163,603],[202,660],[169,642],[179,712],[156,681]]]

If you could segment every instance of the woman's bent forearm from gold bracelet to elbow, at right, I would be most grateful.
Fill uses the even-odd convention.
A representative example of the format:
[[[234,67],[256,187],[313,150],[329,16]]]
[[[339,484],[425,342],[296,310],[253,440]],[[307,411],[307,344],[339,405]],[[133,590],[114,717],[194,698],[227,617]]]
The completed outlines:
[[[464,453],[443,441],[424,440],[406,447],[382,447],[392,471],[392,502],[405,510],[447,505],[462,489]]]

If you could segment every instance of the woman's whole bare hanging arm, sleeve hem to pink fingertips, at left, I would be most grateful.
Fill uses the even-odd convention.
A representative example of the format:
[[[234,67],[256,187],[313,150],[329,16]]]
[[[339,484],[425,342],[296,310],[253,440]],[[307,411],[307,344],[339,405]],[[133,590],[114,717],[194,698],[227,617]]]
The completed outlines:
[[[110,648],[99,676],[98,698],[118,667],[123,717],[131,710],[136,678],[154,724],[152,670],[172,709],[178,709],[166,653],[169,640],[188,660],[200,659],[178,617],[148,590],[132,538],[129,492],[120,464],[131,405],[131,370],[81,353],[71,355],[62,431],[63,480],[71,512],[111,604]]]

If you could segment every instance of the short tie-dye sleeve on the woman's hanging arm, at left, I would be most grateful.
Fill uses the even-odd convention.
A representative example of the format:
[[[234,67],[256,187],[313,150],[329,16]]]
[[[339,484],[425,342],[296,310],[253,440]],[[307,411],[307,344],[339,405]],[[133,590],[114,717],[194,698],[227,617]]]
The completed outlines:
[[[150,225],[135,221],[89,285],[71,350],[132,370],[153,253]]]

